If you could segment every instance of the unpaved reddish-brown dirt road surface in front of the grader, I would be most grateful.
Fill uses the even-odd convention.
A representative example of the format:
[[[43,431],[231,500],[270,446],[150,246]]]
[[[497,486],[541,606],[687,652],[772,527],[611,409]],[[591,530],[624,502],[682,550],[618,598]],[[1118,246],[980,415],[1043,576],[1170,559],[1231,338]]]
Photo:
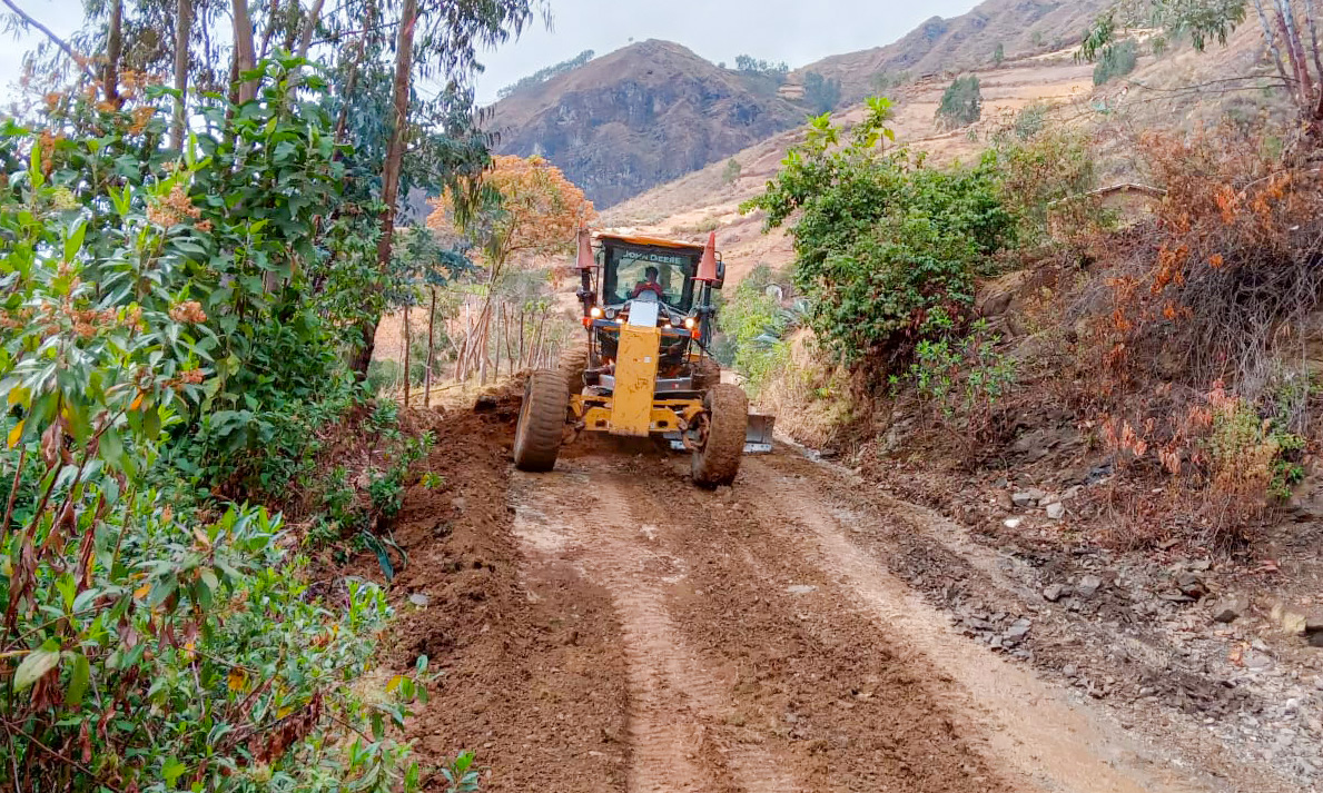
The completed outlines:
[[[413,737],[476,749],[486,790],[1294,789],[959,634],[888,566],[958,543],[792,451],[705,492],[603,447],[523,474],[503,424],[466,432],[495,448],[434,459],[446,493],[397,531],[429,599],[398,644],[442,669]]]

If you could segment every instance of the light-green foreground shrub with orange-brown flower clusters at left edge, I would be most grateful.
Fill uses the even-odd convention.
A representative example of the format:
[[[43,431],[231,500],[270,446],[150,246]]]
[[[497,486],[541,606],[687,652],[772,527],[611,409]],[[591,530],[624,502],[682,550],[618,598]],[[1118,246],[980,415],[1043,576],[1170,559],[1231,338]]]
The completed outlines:
[[[352,686],[381,591],[324,601],[278,517],[147,481],[213,382],[209,316],[175,285],[191,254],[160,222],[194,173],[77,182],[101,190],[81,205],[52,155],[12,127],[0,145],[0,768],[29,790],[417,789],[386,735],[406,703]]]

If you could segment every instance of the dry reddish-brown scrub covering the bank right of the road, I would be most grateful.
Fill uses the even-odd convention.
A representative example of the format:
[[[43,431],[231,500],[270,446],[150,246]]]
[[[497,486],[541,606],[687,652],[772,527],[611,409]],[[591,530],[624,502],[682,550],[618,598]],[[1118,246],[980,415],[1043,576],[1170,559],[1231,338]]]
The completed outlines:
[[[1283,155],[1273,132],[1232,123],[1148,131],[1122,155],[1143,206],[1115,211],[1121,190],[1097,184],[1095,141],[1050,130],[1017,136],[1012,123],[978,173],[995,181],[996,210],[1013,215],[1013,245],[970,258],[918,239],[900,250],[905,227],[892,226],[881,234],[892,247],[849,295],[877,293],[897,255],[908,267],[946,267],[929,271],[945,280],[908,283],[910,303],[897,304],[888,284],[888,300],[851,307],[889,312],[885,346],[841,354],[867,319],[810,322],[815,334],[789,342],[787,365],[757,383],[761,398],[819,448],[957,471],[1009,472],[1016,441],[1064,408],[1074,441],[1044,464],[1110,465],[1114,476],[1081,502],[1099,539],[1252,539],[1304,480],[1318,435],[1323,188],[1306,151]],[[922,169],[905,170],[908,186],[889,196],[910,219],[926,201],[917,185],[934,184]],[[849,196],[841,185],[811,201]],[[824,293],[820,274],[816,284],[803,278],[806,235],[832,239],[811,201],[791,231],[795,275]],[[962,217],[994,217],[983,209]],[[976,292],[964,293],[955,272],[976,276]],[[848,270],[828,278],[848,289]]]

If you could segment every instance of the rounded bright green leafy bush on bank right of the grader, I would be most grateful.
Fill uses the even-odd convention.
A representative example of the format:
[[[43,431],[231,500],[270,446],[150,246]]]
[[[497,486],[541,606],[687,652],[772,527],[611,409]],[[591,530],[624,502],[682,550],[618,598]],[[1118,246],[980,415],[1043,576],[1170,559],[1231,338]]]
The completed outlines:
[[[796,217],[795,283],[810,324],[845,363],[885,369],[913,350],[927,312],[962,315],[975,274],[1015,238],[998,193],[995,161],[929,168],[904,148],[885,151],[889,102],[848,141],[826,116],[790,152],[765,194],[769,227]]]

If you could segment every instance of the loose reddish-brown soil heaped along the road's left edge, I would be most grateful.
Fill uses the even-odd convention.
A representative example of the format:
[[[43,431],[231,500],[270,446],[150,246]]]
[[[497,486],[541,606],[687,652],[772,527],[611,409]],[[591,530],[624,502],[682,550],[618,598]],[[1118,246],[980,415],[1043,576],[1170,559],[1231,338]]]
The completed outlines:
[[[405,671],[425,654],[439,671],[409,737],[425,764],[476,751],[484,790],[619,790],[610,755],[623,748],[610,736],[624,731],[626,690],[610,604],[565,570],[521,575],[508,408],[497,399],[437,420],[423,471],[445,484],[414,485],[394,523],[409,564],[390,585],[401,617],[389,662]]]

